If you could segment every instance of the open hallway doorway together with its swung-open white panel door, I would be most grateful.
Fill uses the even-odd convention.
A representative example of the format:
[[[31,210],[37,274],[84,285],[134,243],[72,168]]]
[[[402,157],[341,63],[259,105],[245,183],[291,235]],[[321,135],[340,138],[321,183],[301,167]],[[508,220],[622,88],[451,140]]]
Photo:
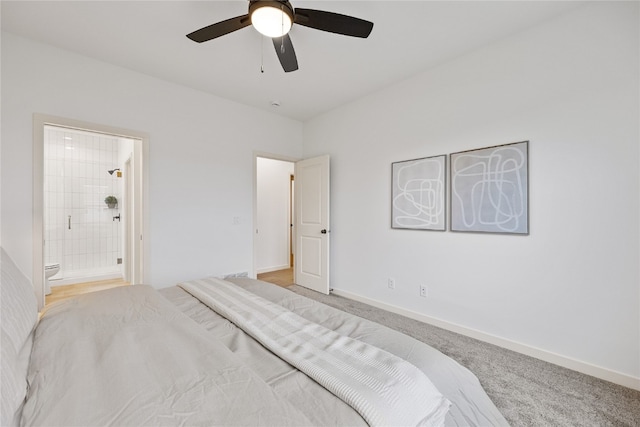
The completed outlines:
[[[271,161],[287,163],[285,172],[277,179],[279,197],[270,197],[259,188],[266,186],[270,177],[259,164],[276,165]],[[284,165],[283,165],[284,167]],[[291,169],[295,176],[291,182]],[[304,160],[283,159],[254,154],[253,203],[253,271],[251,277],[266,278],[267,274],[288,270],[293,257],[292,282],[326,295],[330,292],[330,157],[322,155]],[[268,186],[267,186],[268,187]],[[292,196],[294,195],[295,196]],[[293,200],[295,198],[295,200]],[[272,207],[284,212],[276,222],[265,221]],[[277,239],[265,238],[272,233]],[[283,243],[284,242],[284,243]],[[287,249],[284,249],[287,248]],[[275,254],[278,261],[270,255]]]

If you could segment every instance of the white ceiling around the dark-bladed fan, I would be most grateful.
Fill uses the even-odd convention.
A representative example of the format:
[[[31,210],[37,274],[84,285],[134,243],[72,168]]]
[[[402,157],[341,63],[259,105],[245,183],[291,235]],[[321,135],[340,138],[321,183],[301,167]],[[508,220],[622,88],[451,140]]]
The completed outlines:
[[[372,21],[373,31],[359,39],[294,25],[300,69],[285,74],[271,41],[252,27],[202,44],[185,37],[246,14],[245,0],[3,0],[2,30],[305,121],[580,5],[291,1]]]

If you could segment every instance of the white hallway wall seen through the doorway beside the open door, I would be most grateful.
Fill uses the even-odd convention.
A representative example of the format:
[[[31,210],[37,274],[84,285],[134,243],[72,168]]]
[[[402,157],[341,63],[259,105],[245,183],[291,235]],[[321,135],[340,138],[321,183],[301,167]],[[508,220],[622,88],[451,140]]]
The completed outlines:
[[[257,159],[258,234],[256,272],[289,268],[290,185],[293,163]]]

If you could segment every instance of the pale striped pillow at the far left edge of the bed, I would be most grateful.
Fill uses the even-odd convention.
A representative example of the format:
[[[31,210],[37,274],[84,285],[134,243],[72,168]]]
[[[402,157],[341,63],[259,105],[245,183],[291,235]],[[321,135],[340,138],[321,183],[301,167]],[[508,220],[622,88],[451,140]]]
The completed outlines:
[[[20,421],[27,395],[27,370],[33,346],[33,330],[38,323],[38,303],[31,281],[4,249],[0,248],[0,251],[0,425],[13,426]]]

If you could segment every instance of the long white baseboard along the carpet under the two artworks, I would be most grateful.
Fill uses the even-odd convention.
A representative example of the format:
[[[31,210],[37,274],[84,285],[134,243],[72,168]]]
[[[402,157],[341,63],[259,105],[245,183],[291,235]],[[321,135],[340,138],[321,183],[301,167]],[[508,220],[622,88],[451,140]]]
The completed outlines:
[[[364,297],[348,291],[342,291],[340,289],[333,289],[335,295],[349,298],[355,301],[360,301],[365,304],[390,311],[392,313],[400,314],[409,317],[420,322],[428,323],[430,325],[437,326],[448,331],[456,332],[461,335],[465,335],[471,338],[475,338],[480,341],[494,344],[508,350],[512,350],[527,356],[535,357],[536,359],[544,360],[545,362],[553,363],[573,371],[581,372],[583,374],[591,375],[592,377],[600,378],[605,381],[609,381],[615,384],[619,384],[624,387],[632,388],[634,390],[640,390],[640,378],[633,377],[631,375],[623,374],[621,372],[613,371],[611,369],[596,366],[587,362],[583,362],[577,359],[573,359],[561,354],[556,354],[547,350],[542,350],[536,347],[522,344],[516,341],[511,341],[505,338],[501,338],[496,335],[487,334],[485,332],[468,328],[466,326],[458,325],[448,322],[446,320],[438,319],[424,314],[417,313],[415,311],[407,310],[402,307],[398,307],[392,304],[387,304],[381,301],[377,301],[371,298]]]

